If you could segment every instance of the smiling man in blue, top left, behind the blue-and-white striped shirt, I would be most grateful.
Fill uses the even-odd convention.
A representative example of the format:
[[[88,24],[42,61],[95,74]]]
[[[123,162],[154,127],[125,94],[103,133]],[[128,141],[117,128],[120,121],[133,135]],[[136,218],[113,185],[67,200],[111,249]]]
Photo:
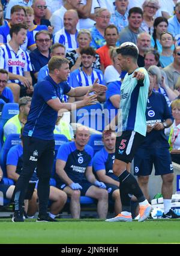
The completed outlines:
[[[11,36],[10,36],[11,26],[17,23],[24,23],[25,16],[26,16],[25,7],[22,7],[20,5],[14,5],[11,8],[11,21],[7,25],[0,27],[0,43],[7,43],[11,40]],[[28,48],[30,51],[33,51],[36,48],[34,39],[29,33],[29,31],[26,35],[24,42],[22,43],[21,48],[25,51],[26,51],[26,48]]]

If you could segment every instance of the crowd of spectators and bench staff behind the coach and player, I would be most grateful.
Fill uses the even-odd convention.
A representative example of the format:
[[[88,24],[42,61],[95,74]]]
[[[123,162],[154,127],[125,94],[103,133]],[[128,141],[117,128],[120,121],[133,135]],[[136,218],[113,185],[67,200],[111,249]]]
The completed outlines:
[[[98,108],[102,115],[106,113],[104,122],[109,123],[118,112],[121,83],[126,75],[118,65],[116,52],[124,42],[137,45],[138,66],[148,70],[152,90],[163,95],[172,112],[173,124],[166,130],[166,135],[169,137],[172,160],[180,164],[179,0],[1,1],[0,111],[8,102],[19,103],[20,110],[5,124],[4,140],[10,133],[20,133],[25,125],[34,88],[49,74],[47,64],[53,56],[61,56],[69,61],[70,87],[91,86],[96,81],[107,86],[106,93],[96,94]],[[94,92],[91,93],[93,95]],[[63,95],[61,101],[82,99]],[[89,116],[91,111],[89,109]],[[163,113],[163,109],[161,111]],[[161,122],[164,120],[165,117],[162,117]],[[152,124],[155,122],[158,120]],[[54,133],[64,134],[72,142],[58,151],[55,177],[58,188],[50,189],[50,200],[53,201],[50,216],[55,217],[61,211],[68,196],[71,198],[72,217],[79,218],[80,195],[97,199],[100,218],[106,218],[109,195],[115,201],[115,212],[118,214],[121,211],[119,182],[112,174],[115,134],[112,134],[112,138],[103,136],[104,148],[101,154],[94,157],[92,148],[86,145],[89,140],[88,128],[86,130],[83,126],[82,130],[77,130],[74,138],[70,123],[62,119],[59,121],[58,118]],[[19,169],[16,173],[19,160],[16,158],[15,161],[12,155],[16,155],[17,151],[19,158],[22,157],[22,147],[21,144],[11,151],[7,158],[8,178],[15,182],[19,175]],[[76,151],[77,155],[74,156]],[[84,163],[81,151],[85,151]],[[72,175],[71,164],[79,177]],[[85,178],[82,173],[86,173],[86,181],[82,181]],[[0,190],[2,176],[0,170]],[[5,198],[11,198],[13,187],[2,189]],[[34,201],[37,201],[37,197],[35,193],[26,209],[29,216],[36,211]]]

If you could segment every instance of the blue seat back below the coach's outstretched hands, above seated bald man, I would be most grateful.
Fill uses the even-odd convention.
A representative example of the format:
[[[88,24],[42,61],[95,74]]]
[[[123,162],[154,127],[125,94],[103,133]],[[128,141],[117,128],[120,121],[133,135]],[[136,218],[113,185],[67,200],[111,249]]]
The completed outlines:
[[[104,130],[104,114],[100,103],[86,106],[72,112],[73,123],[80,123],[96,131]]]

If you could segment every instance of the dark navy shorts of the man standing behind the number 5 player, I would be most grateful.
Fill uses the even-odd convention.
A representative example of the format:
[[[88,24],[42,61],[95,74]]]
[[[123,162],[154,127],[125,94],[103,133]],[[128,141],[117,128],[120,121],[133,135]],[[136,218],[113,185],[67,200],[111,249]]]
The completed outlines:
[[[153,164],[155,175],[173,173],[173,165],[168,148],[140,148],[134,155],[134,175],[151,175]]]

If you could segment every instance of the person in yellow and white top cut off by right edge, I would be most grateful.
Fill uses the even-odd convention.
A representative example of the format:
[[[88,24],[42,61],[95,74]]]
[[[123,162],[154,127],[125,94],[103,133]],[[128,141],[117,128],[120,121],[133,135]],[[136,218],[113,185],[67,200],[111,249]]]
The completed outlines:
[[[169,128],[169,151],[172,161],[180,164],[180,99],[176,99],[170,105],[174,118],[172,126]]]

